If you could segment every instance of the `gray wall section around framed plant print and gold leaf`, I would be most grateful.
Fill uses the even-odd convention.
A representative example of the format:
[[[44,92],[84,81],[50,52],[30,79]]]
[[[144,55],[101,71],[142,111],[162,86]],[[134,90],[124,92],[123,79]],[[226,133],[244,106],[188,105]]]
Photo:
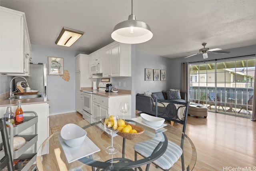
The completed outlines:
[[[47,96],[50,100],[49,114],[75,111],[75,56],[82,52],[32,45],[32,62],[48,64],[48,56],[64,58],[64,70],[68,70],[70,80],[60,76],[47,75]],[[47,66],[48,67],[48,66]]]

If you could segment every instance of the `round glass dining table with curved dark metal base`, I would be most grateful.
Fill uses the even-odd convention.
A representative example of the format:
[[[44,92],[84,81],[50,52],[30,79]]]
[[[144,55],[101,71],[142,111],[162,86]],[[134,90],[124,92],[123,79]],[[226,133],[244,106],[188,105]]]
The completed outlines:
[[[123,116],[120,116],[122,118]],[[144,133],[136,139],[129,140],[117,134],[114,135],[114,146],[119,151],[115,154],[106,153],[105,149],[111,145],[111,137],[104,131],[100,117],[84,119],[75,123],[86,130],[85,141],[80,147],[68,147],[60,136],[61,128],[50,135],[38,149],[36,165],[38,171],[102,171],[115,166],[116,170],[161,170],[156,168],[152,161],[158,159],[167,148],[168,140],[180,145],[183,155],[172,166],[172,170],[189,171],[196,163],[196,148],[191,139],[180,129],[164,123],[161,127],[151,127],[143,123],[139,117],[126,116],[125,121],[140,126]],[[162,145],[150,157],[138,155],[134,160],[134,145],[153,137],[162,137]],[[135,169],[136,168],[136,169]]]

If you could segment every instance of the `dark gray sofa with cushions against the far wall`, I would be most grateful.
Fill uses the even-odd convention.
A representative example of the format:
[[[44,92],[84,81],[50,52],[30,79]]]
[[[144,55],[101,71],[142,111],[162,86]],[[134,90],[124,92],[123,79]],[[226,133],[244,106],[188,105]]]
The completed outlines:
[[[170,90],[153,92],[153,93],[150,93],[150,91],[145,91],[143,94],[137,93],[136,94],[136,110],[155,116],[156,104],[155,104],[154,98],[163,99],[163,100],[172,100],[177,102],[186,102],[186,93],[180,92],[179,90],[173,90],[173,89],[170,89]],[[175,91],[175,92],[172,92],[172,91]],[[170,96],[170,94],[173,96]],[[157,107],[158,117],[177,119],[178,109],[179,109],[179,106],[174,105],[173,103],[158,102],[158,107]],[[180,115],[182,115],[183,113],[181,113]],[[180,117],[178,117],[178,119],[182,119]]]

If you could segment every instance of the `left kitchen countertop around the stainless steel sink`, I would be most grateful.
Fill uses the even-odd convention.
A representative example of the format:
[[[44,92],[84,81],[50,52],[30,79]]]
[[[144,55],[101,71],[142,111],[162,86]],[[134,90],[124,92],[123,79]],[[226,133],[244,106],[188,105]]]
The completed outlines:
[[[42,92],[39,92],[38,94],[42,94]],[[0,107],[6,107],[6,106],[14,106],[17,105],[18,99],[14,99],[14,100],[4,100],[1,99],[0,100]],[[36,104],[36,103],[48,103],[49,99],[47,98],[47,96],[45,95],[44,97],[38,97],[38,98],[31,98],[31,99],[20,99],[22,105],[29,105],[29,104]]]

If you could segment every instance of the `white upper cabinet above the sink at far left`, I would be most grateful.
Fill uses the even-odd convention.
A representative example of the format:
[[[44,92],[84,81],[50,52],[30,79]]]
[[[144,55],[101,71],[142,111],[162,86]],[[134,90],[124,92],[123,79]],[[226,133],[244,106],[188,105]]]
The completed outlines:
[[[0,73],[29,76],[31,45],[25,14],[0,6]]]

